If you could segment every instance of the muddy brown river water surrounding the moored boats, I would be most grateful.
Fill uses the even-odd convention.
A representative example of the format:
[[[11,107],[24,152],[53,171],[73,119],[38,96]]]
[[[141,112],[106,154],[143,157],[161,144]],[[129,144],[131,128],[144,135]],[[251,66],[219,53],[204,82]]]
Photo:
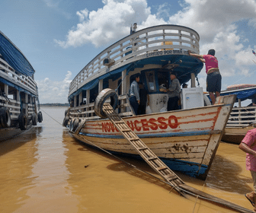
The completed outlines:
[[[0,212],[235,212],[184,199],[149,174],[78,142],[61,126],[65,110],[43,107],[42,123],[0,142]],[[122,159],[160,178],[146,163]],[[206,181],[178,175],[189,186],[253,208],[244,196],[253,183],[238,145],[219,145]]]

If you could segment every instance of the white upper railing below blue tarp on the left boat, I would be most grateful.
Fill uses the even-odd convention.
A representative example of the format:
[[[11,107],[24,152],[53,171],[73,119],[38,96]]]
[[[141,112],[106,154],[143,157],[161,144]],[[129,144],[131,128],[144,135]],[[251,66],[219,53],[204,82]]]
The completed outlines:
[[[30,76],[21,75],[19,72],[15,72],[5,60],[0,58],[0,77],[5,78],[13,84],[30,91],[32,94],[37,94],[37,84]]]

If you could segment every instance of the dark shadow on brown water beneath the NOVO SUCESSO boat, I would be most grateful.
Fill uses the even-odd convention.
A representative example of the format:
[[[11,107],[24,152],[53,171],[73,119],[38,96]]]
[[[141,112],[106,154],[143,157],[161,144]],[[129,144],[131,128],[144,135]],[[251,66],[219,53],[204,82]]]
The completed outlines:
[[[103,157],[114,159],[115,161],[119,162],[115,164],[110,164],[107,167],[107,169],[109,170],[114,170],[117,172],[124,171],[126,173],[129,173],[130,175],[139,177],[142,180],[146,180],[149,183],[154,183],[158,186],[162,186],[167,190],[171,189],[171,186],[168,186],[168,184],[165,184],[161,180],[155,178],[154,176],[157,176],[161,179],[161,177],[156,175],[155,171],[152,170],[152,168],[149,167],[149,165],[143,161],[130,157],[121,157],[120,155],[117,155],[117,157],[120,157],[120,159],[122,159],[123,161],[126,161],[129,164],[133,164],[137,168],[146,171],[146,173],[143,173],[140,170],[136,170],[130,165],[125,164],[124,162],[114,157],[114,155],[104,153],[104,151],[101,151],[98,148],[94,148],[91,145],[85,145],[85,143],[78,141],[76,139],[74,141],[74,144],[79,145],[78,151],[94,151]],[[222,157],[217,154],[205,181],[184,175],[183,173],[178,173],[175,171],[174,172],[177,173],[178,176],[180,176],[185,183],[193,183],[196,184],[197,186],[203,186],[203,184],[206,183],[206,186],[212,189],[220,189],[226,192],[236,192],[239,194],[245,194],[251,191],[251,188],[250,186],[248,186],[248,183],[252,183],[252,180],[247,176],[241,176],[241,171],[242,167],[240,167],[238,164],[235,164],[234,161],[229,161],[225,157]],[[152,175],[154,176],[150,176],[147,173],[152,173]]]

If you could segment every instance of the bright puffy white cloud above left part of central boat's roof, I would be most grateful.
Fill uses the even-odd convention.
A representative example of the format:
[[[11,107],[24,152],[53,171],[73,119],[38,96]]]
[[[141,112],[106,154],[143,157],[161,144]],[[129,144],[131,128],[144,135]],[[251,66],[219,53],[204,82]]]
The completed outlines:
[[[78,11],[80,23],[69,30],[66,41],[55,40],[59,46],[82,46],[93,43],[101,46],[130,33],[130,25],[142,23],[150,14],[146,0],[104,0],[98,11]]]

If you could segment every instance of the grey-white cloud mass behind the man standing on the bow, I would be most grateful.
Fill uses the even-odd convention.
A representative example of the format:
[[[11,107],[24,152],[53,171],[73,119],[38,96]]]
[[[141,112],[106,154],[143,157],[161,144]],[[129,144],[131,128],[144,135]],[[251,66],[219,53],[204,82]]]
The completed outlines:
[[[201,54],[206,54],[208,49],[216,49],[224,80],[225,77],[234,75],[250,75],[253,63],[251,46],[248,46],[250,41],[246,37],[246,32],[238,32],[238,22],[256,28],[256,19],[252,18],[256,16],[256,2],[184,0],[183,3],[183,10],[172,15],[169,24],[180,24],[197,30],[200,34]],[[248,30],[248,27],[245,29]],[[200,81],[206,79],[205,73],[200,72],[199,78]],[[222,80],[222,84],[226,82]]]

